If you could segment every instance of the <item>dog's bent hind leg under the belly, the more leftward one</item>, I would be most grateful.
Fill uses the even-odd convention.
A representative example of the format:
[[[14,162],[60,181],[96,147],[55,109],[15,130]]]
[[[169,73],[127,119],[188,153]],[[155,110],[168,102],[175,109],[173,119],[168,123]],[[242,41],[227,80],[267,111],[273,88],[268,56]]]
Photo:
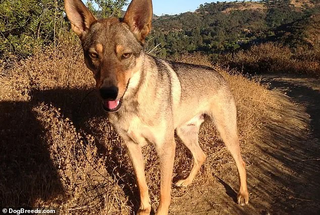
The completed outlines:
[[[190,150],[193,157],[193,167],[186,179],[179,180],[175,184],[177,186],[188,186],[198,173],[201,165],[205,161],[206,155],[198,144],[198,132],[200,125],[204,121],[202,115],[198,115],[188,121],[186,124],[177,128],[177,134],[183,141],[184,145]]]

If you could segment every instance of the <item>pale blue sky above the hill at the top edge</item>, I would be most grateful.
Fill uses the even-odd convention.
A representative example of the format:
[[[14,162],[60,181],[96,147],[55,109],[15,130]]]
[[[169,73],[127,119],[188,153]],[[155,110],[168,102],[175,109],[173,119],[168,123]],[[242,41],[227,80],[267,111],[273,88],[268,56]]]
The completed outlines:
[[[224,2],[225,0],[220,0],[220,2]],[[234,2],[235,0],[231,0],[228,2]],[[130,0],[128,1],[130,2]],[[217,2],[214,0],[152,0],[153,4],[153,13],[157,16],[169,14],[175,15],[188,11],[195,11],[200,4]],[[126,6],[123,10],[127,10]]]

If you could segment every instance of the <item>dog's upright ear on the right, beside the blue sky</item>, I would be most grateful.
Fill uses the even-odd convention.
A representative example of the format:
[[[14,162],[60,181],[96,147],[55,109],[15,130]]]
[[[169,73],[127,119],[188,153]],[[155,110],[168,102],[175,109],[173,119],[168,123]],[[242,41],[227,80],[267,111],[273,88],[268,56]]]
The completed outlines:
[[[152,2],[151,0],[132,0],[123,18],[131,32],[141,42],[145,42],[145,37],[151,30]]]

